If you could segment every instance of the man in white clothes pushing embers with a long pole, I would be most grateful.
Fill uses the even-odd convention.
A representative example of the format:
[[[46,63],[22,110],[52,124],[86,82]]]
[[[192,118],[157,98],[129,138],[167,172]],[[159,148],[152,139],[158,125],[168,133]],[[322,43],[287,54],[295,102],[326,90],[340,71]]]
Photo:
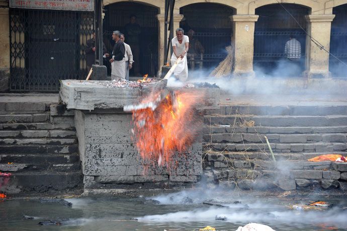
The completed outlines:
[[[188,79],[187,51],[189,49],[189,38],[184,33],[185,31],[182,28],[176,30],[176,37],[171,40],[173,53],[170,60],[171,66],[173,66],[179,57],[183,58],[182,62],[173,70],[173,75],[182,82]]]

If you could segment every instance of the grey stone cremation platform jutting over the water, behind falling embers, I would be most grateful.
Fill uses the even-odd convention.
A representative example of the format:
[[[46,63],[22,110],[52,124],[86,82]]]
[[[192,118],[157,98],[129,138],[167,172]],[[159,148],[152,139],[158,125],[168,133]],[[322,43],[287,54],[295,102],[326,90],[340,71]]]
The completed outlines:
[[[132,139],[132,115],[123,107],[138,103],[155,83],[141,89],[113,87],[114,84],[76,80],[61,83],[61,102],[75,109],[84,193],[162,189],[196,182],[202,175],[202,135],[184,155],[174,157],[176,168],[143,161]]]

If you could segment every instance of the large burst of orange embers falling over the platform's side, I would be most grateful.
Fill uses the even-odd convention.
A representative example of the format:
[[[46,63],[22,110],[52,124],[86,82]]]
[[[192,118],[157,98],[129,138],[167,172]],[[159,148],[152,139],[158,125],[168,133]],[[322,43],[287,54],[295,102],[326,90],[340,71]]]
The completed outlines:
[[[202,97],[194,91],[176,91],[163,99],[153,111],[151,108],[133,111],[134,135],[143,160],[157,161],[159,166],[170,167],[176,151],[184,154],[194,142],[200,121],[195,120],[194,105]],[[152,94],[142,102],[153,101]],[[171,162],[170,162],[171,161]]]

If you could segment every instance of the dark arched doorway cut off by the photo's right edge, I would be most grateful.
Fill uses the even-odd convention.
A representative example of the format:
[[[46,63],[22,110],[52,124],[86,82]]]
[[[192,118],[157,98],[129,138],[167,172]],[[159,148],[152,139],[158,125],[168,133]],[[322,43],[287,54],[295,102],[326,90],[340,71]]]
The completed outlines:
[[[331,23],[330,53],[347,63],[347,4],[334,7],[335,15]],[[346,66],[336,58],[330,56],[329,71],[333,77],[347,77]]]

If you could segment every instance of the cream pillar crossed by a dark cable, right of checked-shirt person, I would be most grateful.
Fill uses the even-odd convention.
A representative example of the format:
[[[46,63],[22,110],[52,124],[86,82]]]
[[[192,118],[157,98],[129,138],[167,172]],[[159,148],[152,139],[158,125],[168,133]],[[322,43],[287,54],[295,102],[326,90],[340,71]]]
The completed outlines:
[[[323,47],[330,49],[331,22],[335,15],[306,15],[307,32]],[[320,49],[309,36],[306,36],[306,70],[307,78],[330,78],[329,54]]]

